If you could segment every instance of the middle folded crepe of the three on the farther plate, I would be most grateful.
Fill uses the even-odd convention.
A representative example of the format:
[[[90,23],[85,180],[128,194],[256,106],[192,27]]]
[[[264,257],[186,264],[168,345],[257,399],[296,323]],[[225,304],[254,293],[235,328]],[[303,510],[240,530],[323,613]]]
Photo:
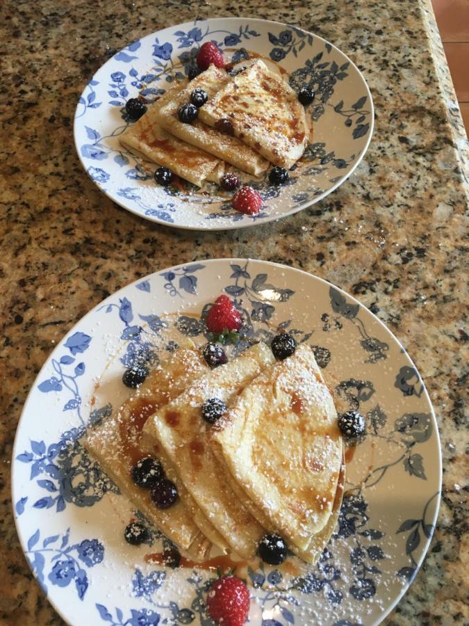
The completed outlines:
[[[201,72],[199,76],[190,81],[187,87],[175,93],[170,101],[167,100],[165,104],[160,106],[156,112],[156,118],[161,126],[172,135],[214,154],[215,157],[231,163],[244,172],[259,176],[268,168],[269,163],[256,150],[245,145],[236,137],[206,126],[199,120],[195,120],[192,124],[184,124],[179,121],[177,116],[179,106],[190,102],[190,94],[195,88],[204,89],[210,98],[231,80],[227,72],[211,65],[208,70]],[[199,113],[201,109],[199,109]]]

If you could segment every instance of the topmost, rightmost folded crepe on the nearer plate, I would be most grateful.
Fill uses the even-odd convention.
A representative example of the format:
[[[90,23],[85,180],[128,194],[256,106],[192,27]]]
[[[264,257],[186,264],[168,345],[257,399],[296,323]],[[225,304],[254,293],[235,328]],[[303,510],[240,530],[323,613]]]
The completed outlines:
[[[331,517],[343,441],[309,346],[247,385],[211,433],[258,522],[300,551]]]

